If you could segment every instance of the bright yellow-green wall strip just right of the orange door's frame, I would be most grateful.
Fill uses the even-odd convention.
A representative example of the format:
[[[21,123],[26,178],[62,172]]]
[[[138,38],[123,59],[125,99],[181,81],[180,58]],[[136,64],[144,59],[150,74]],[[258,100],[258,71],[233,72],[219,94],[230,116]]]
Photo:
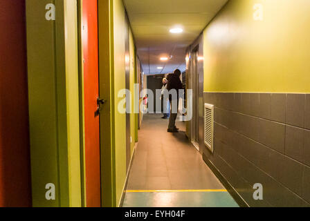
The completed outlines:
[[[125,8],[121,0],[113,0],[113,124],[115,145],[115,176],[116,176],[116,203],[120,197],[126,179],[126,115],[118,112],[118,91],[125,86]]]

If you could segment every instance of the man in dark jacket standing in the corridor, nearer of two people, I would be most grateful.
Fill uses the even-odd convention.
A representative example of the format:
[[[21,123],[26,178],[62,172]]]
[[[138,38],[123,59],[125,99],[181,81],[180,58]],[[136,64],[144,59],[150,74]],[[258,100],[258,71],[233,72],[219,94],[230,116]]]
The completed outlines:
[[[179,130],[178,128],[176,128],[176,116],[178,115],[179,108],[179,90],[183,89],[183,84],[180,80],[180,76],[181,70],[179,69],[174,70],[173,74],[167,76],[167,90],[170,93],[169,99],[171,104],[170,106],[172,108],[169,118],[169,126],[167,130],[169,133],[176,133]],[[173,96],[173,91],[176,92],[176,96]]]

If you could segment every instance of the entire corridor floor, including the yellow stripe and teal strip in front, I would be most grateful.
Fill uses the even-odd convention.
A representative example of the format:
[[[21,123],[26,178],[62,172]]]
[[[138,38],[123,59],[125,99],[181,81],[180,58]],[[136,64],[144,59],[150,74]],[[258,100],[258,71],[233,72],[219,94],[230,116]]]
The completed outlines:
[[[168,119],[143,116],[123,206],[238,206],[188,142],[185,123],[178,119],[179,133],[167,133]]]

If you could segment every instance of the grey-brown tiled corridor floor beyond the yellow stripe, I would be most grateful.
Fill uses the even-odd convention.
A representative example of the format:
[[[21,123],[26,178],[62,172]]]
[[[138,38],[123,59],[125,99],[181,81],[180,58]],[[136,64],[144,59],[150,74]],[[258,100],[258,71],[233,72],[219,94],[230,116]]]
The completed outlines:
[[[225,189],[201,154],[179,133],[167,133],[167,119],[144,115],[127,190]]]

